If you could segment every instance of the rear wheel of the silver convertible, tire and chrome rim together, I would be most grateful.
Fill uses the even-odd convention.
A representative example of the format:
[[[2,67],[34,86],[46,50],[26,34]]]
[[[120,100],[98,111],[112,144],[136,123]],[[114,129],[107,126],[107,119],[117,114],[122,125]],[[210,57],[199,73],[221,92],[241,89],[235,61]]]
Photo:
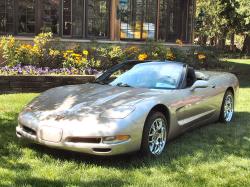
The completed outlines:
[[[233,116],[234,116],[234,94],[231,90],[227,90],[224,95],[221,106],[220,122],[229,123],[232,121]]]

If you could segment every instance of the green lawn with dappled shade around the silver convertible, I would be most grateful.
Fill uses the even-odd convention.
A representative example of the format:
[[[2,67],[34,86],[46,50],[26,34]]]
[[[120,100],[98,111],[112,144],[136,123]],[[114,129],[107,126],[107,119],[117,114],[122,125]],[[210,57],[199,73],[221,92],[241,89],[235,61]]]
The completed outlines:
[[[187,132],[158,159],[90,157],[20,141],[17,115],[36,94],[0,95],[0,186],[250,186],[250,60],[228,61],[242,83],[232,124]]]

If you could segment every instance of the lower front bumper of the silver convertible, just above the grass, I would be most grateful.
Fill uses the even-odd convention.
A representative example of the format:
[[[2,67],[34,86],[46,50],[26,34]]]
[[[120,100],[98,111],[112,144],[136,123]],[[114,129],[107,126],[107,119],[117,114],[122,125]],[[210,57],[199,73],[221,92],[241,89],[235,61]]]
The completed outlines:
[[[35,132],[35,131],[33,131]],[[39,132],[39,130],[37,131]],[[138,146],[135,146],[133,139],[128,141],[117,143],[117,144],[104,144],[99,143],[79,143],[79,142],[68,142],[66,139],[58,139],[53,141],[44,140],[41,137],[41,133],[32,133],[27,131],[22,126],[16,127],[16,135],[18,138],[27,139],[34,143],[45,145],[51,148],[64,149],[70,151],[76,151],[91,155],[100,155],[100,156],[112,156],[130,153],[138,150]]]

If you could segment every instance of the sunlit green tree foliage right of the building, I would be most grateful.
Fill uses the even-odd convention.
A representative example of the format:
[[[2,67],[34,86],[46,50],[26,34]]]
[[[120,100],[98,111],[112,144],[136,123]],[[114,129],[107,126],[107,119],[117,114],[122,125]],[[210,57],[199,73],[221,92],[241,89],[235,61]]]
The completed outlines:
[[[205,44],[206,39],[210,38],[210,44],[224,47],[225,39],[230,35],[233,47],[235,33],[244,34],[248,43],[249,0],[197,0],[196,12],[196,33],[201,44]]]

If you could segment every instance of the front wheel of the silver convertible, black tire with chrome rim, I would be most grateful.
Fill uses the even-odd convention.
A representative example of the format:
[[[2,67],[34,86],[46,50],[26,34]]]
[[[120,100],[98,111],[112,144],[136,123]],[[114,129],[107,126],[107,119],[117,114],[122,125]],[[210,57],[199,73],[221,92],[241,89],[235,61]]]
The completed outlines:
[[[141,152],[144,156],[159,156],[167,141],[167,120],[161,112],[149,114],[143,130]]]

